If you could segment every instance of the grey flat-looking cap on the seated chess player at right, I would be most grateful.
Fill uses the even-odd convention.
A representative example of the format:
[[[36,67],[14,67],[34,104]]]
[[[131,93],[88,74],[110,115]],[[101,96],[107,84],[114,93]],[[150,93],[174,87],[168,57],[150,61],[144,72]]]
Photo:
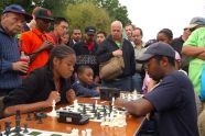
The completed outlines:
[[[142,56],[137,59],[137,61],[145,63],[155,55],[162,55],[162,56],[166,56],[166,57],[171,57],[175,59],[175,52],[171,47],[171,45],[162,43],[162,42],[158,42],[158,43],[151,44],[148,47],[148,49],[142,54]]]

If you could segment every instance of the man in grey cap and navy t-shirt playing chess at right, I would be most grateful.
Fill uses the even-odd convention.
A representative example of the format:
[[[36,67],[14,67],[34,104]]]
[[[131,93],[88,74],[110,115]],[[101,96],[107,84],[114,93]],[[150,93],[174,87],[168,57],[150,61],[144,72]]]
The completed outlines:
[[[159,83],[142,98],[133,101],[117,99],[115,105],[136,116],[154,113],[158,125],[152,135],[198,136],[193,84],[184,72],[175,69],[174,57],[170,45],[150,45],[140,60],[147,61],[149,76]]]

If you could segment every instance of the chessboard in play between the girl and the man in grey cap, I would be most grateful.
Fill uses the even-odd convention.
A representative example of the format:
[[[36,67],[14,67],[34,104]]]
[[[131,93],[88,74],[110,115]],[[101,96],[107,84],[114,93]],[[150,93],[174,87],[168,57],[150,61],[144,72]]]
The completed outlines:
[[[68,105],[65,107],[61,107],[56,110],[57,115],[60,112],[75,112],[82,113],[89,117],[89,121],[93,122],[102,122],[106,116],[116,117],[118,114],[125,115],[127,112],[125,110],[118,110],[115,106],[110,105],[101,105],[97,103],[77,103],[73,105]]]

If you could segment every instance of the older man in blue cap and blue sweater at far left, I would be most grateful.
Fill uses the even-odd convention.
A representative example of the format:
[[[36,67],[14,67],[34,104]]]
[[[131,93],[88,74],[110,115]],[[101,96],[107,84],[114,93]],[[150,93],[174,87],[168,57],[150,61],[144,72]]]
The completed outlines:
[[[32,16],[18,4],[3,10],[0,23],[0,97],[7,95],[22,83],[20,71],[28,71],[28,63],[20,61],[20,49],[15,35]]]

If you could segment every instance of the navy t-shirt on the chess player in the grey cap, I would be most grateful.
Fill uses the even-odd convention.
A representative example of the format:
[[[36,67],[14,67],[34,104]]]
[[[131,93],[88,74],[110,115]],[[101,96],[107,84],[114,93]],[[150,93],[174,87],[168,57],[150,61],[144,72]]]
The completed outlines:
[[[186,75],[165,76],[144,99],[155,109],[160,136],[198,136],[194,88]]]

